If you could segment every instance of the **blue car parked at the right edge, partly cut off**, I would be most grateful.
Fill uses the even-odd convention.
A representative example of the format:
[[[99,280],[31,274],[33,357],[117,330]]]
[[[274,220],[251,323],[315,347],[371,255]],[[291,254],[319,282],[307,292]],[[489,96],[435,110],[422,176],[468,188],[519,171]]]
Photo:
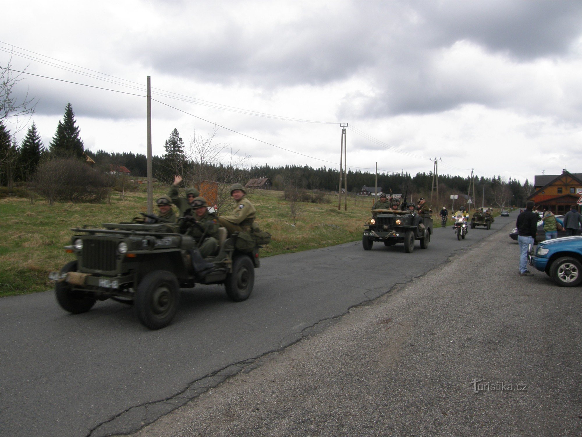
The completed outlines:
[[[582,282],[582,237],[542,241],[531,248],[529,262],[560,287],[575,287]]]

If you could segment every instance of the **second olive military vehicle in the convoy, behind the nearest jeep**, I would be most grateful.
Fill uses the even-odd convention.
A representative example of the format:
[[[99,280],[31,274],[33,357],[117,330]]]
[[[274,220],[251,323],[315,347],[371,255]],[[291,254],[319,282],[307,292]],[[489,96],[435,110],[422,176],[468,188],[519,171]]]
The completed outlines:
[[[427,249],[431,241],[431,214],[424,214],[424,231],[414,224],[414,216],[410,211],[397,209],[374,209],[373,217],[368,218],[364,225],[362,246],[369,251],[375,241],[383,242],[385,246],[404,243],[404,252],[414,251],[414,240],[420,241],[420,247]]]

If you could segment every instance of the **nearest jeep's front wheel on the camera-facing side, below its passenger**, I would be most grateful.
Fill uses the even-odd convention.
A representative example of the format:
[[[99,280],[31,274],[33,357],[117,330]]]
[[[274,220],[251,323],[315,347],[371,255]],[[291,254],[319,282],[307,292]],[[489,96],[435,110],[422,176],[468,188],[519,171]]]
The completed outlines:
[[[172,322],[179,299],[176,275],[167,270],[154,270],[146,274],[137,287],[133,308],[145,327],[161,329]]]

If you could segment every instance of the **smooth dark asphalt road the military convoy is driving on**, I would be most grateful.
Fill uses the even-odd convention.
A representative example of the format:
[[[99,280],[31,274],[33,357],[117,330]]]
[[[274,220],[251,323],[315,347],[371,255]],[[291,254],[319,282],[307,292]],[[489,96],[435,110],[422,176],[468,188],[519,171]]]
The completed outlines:
[[[411,254],[354,242],[266,258],[246,302],[230,302],[221,286],[183,291],[172,325],[154,332],[114,301],[69,315],[52,292],[2,298],[0,435],[136,431],[513,221],[496,218],[462,241],[435,228],[429,248],[416,242]]]

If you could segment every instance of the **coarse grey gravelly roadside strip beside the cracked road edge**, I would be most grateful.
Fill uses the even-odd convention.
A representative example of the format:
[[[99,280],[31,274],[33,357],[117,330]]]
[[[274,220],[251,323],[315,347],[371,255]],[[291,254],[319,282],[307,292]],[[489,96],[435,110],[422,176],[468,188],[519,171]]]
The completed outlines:
[[[580,436],[580,287],[520,277],[505,230],[134,437]]]

